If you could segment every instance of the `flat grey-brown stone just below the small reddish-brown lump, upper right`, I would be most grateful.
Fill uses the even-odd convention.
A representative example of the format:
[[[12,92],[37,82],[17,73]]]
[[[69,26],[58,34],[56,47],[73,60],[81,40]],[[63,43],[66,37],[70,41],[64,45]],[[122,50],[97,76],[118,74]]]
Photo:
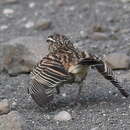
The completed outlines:
[[[94,32],[89,35],[89,37],[93,40],[107,40],[108,36],[105,33]]]

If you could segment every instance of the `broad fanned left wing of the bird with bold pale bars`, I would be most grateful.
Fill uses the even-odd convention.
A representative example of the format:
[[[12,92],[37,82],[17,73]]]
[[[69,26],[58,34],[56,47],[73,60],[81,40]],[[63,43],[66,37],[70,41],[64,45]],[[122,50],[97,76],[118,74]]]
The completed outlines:
[[[44,106],[53,99],[56,87],[72,78],[59,60],[44,57],[32,71],[32,85],[28,92],[39,106]]]

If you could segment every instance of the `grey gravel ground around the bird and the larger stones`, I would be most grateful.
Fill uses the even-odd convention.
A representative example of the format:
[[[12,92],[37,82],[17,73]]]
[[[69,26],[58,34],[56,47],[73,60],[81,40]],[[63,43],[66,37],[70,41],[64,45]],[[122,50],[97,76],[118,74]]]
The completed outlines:
[[[8,13],[4,10],[11,9]],[[112,52],[130,54],[130,3],[120,0],[18,0],[15,4],[0,4],[0,44],[21,36],[43,36],[53,32],[72,37],[83,50],[99,55]],[[37,19],[50,20],[46,30],[32,27]],[[107,39],[96,39],[91,33],[95,24],[106,28]],[[92,35],[92,37],[90,36]],[[94,37],[94,38],[93,38]],[[114,38],[113,38],[114,37]],[[25,43],[26,44],[26,43]],[[118,75],[130,73],[116,71]],[[120,93],[95,70],[89,72],[83,88],[80,105],[72,106],[78,87],[64,87],[56,95],[59,101],[55,111],[39,108],[26,92],[29,75],[9,77],[0,74],[0,99],[16,102],[12,110],[21,113],[25,130],[130,130],[130,99]],[[130,91],[130,82],[123,82]],[[72,120],[53,120],[56,113],[65,110]]]

